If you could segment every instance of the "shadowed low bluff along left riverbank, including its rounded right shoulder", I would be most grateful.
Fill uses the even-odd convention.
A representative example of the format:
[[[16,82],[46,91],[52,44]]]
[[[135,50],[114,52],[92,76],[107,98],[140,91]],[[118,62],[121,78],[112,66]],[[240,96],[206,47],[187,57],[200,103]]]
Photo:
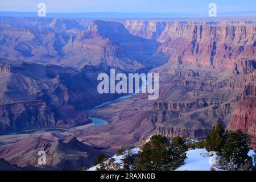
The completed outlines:
[[[90,120],[72,106],[60,107],[58,111],[46,101],[26,101],[0,105],[0,134],[13,131],[69,128],[85,125]]]

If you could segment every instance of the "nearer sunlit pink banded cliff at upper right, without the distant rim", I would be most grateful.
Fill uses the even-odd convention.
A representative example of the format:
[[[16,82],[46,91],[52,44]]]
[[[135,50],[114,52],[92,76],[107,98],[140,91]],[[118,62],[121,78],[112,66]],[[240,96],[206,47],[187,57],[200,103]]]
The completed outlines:
[[[255,58],[254,36],[253,26],[175,24],[158,39],[158,51],[178,64],[232,68],[234,60]]]

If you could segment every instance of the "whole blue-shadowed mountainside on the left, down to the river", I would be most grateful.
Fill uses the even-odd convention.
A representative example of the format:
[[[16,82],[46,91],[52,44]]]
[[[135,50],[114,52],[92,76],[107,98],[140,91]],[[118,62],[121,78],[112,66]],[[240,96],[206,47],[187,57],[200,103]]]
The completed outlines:
[[[89,123],[80,110],[115,97],[97,92],[98,74],[109,70],[0,60],[0,133]]]

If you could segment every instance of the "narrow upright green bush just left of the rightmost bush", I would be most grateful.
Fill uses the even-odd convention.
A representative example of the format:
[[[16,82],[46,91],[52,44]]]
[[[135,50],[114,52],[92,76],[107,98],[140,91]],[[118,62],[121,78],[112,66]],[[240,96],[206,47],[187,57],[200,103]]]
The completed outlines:
[[[207,151],[216,151],[221,152],[221,149],[224,147],[226,140],[225,128],[221,123],[218,123],[217,126],[214,126],[210,134],[205,140],[205,148]]]

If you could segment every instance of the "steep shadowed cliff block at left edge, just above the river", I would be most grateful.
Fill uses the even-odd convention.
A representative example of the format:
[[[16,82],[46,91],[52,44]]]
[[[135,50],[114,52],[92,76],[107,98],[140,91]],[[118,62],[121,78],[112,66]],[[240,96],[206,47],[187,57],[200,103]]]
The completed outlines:
[[[55,114],[44,101],[0,105],[0,133],[55,127]]]

